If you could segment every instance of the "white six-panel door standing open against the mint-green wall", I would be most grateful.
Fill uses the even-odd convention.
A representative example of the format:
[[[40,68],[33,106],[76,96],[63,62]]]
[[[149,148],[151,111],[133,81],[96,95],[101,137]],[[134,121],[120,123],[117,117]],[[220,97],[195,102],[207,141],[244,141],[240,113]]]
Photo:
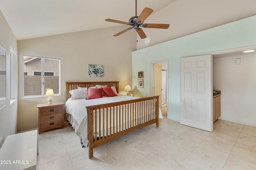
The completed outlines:
[[[180,124],[212,131],[212,57],[180,59]]]

